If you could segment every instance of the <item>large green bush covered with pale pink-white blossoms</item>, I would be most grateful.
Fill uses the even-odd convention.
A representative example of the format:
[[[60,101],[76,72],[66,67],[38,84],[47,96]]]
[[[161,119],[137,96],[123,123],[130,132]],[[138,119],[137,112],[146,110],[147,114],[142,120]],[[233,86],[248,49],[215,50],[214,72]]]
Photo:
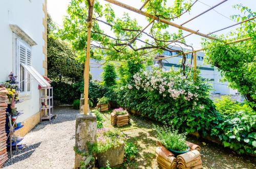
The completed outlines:
[[[185,77],[172,69],[141,70],[127,85],[112,90],[112,101],[191,133],[202,127],[210,130],[210,122],[217,118],[210,115],[214,104],[208,97],[209,90],[200,77],[193,82],[191,74]],[[211,117],[205,123],[203,119],[208,115]]]

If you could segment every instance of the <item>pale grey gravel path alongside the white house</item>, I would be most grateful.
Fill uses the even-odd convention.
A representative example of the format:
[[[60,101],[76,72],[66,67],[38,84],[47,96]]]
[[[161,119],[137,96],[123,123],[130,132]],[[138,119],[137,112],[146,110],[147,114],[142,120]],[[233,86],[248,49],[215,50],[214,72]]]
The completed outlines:
[[[20,143],[27,144],[4,164],[4,168],[73,168],[75,118],[78,110],[55,108],[57,119],[39,123]]]

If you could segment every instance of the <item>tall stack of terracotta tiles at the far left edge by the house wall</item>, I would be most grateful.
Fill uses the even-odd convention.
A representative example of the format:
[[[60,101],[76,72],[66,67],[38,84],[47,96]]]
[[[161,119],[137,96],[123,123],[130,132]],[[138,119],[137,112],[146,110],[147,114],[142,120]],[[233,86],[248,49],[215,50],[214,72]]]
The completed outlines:
[[[0,86],[0,167],[3,166],[5,161],[8,159],[7,149],[6,149],[6,108],[7,108],[7,98],[8,90],[5,87]]]

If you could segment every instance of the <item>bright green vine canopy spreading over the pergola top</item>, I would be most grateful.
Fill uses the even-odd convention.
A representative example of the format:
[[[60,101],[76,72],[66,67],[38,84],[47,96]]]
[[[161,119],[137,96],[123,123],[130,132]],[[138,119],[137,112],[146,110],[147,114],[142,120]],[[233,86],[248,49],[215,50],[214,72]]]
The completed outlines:
[[[191,4],[191,0],[176,0],[173,5],[170,5],[167,0],[153,0],[148,2],[144,9],[146,12],[161,18],[174,20],[188,12],[195,2]],[[62,39],[70,40],[73,47],[79,51],[79,55],[84,59],[87,45],[87,1],[72,0],[67,13],[68,16],[63,21],[63,29],[59,30],[58,34]],[[128,13],[124,13],[121,18],[116,17],[110,4],[102,6],[98,1],[95,1],[93,19],[91,33],[92,58],[101,59],[105,56],[105,60],[127,60],[131,58],[143,60],[151,59],[156,54],[161,54],[163,50],[183,53],[172,49],[170,46],[164,46],[168,42],[183,36],[181,30],[175,33],[166,31],[169,26],[165,23],[154,20],[149,33],[143,31],[135,38],[143,29],[137,20],[132,19]],[[146,19],[148,22],[152,21],[151,18]],[[106,34],[104,32],[105,27],[109,27],[113,35]],[[184,39],[179,42],[184,43]],[[146,54],[150,50],[155,51]]]

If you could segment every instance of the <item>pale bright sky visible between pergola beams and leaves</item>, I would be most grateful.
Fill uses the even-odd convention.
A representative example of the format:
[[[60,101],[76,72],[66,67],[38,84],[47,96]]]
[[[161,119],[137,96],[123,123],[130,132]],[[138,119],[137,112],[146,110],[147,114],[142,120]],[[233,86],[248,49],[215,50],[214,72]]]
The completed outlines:
[[[67,15],[66,10],[67,10],[67,7],[68,7],[70,1],[71,0],[48,0],[47,10],[48,10],[49,14],[51,15],[53,21],[60,28],[62,26],[63,17]],[[119,0],[119,1],[124,4],[136,7],[136,8],[140,8],[143,4],[141,1],[138,1],[138,0]],[[193,2],[194,1],[195,0],[193,0]],[[201,12],[209,9],[211,6],[214,6],[218,3],[220,3],[221,1],[223,1],[223,0],[200,0],[191,8],[191,11],[189,13],[182,15],[180,18],[174,20],[173,22],[177,23],[177,24],[181,24],[184,21],[190,19],[191,17],[194,17],[194,16],[200,14]],[[106,4],[106,2],[103,0],[99,0],[99,2],[102,3],[102,5]],[[172,3],[173,0],[170,0],[167,2]],[[252,11],[256,11],[255,0],[243,0],[243,1],[229,0],[229,1],[221,4],[220,6],[214,8],[214,10],[211,10],[211,11],[197,17],[196,19],[191,20],[190,22],[186,23],[183,26],[190,28],[192,30],[195,30],[195,31],[199,30],[199,32],[207,34],[209,32],[213,32],[213,31],[219,30],[221,28],[233,25],[234,23],[236,23],[236,21],[231,20],[229,18],[229,16],[233,15],[233,14],[238,14],[240,12],[240,11],[232,8],[232,6],[236,5],[236,4],[243,4],[244,6],[248,6],[249,8],[251,8]],[[131,18],[137,19],[138,23],[142,27],[145,27],[148,24],[145,17],[140,14],[123,9],[116,5],[112,5],[112,7],[116,13],[116,17],[121,17],[123,12],[127,12],[131,16]],[[229,31],[236,29],[237,27],[239,27],[239,26],[235,26],[235,27],[220,31],[216,34],[217,35],[218,34],[226,34]],[[178,29],[173,28],[173,27],[169,27],[167,30],[170,31],[171,33],[178,31]],[[145,31],[148,32],[147,29]],[[104,26],[104,32],[106,32],[107,34],[110,34],[110,35],[112,34],[110,31],[110,28],[107,28],[106,26]],[[189,32],[184,31],[183,35],[187,35],[187,34],[189,34]],[[187,44],[193,45],[194,49],[201,49],[201,44],[200,44],[201,36],[193,34],[193,35],[186,37],[185,41]]]

